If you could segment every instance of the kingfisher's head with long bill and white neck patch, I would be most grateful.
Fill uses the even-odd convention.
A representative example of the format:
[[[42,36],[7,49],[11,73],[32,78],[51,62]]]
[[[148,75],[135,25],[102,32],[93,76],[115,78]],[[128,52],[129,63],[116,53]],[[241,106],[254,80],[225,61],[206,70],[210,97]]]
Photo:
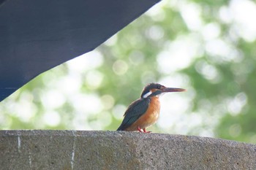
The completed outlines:
[[[179,92],[185,91],[183,88],[166,88],[164,85],[160,85],[158,83],[150,83],[146,85],[141,93],[141,98],[153,97],[153,96],[160,96],[163,93],[168,92]]]

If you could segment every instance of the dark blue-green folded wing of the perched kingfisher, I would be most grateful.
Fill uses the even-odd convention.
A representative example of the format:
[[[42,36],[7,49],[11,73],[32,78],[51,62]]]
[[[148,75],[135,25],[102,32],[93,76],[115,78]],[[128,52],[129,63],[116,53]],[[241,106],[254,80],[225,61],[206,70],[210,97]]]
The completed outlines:
[[[117,131],[124,131],[124,129],[132,125],[132,123],[135,123],[135,121],[146,112],[149,103],[150,98],[140,98],[137,101],[132,102],[124,113],[124,120]]]

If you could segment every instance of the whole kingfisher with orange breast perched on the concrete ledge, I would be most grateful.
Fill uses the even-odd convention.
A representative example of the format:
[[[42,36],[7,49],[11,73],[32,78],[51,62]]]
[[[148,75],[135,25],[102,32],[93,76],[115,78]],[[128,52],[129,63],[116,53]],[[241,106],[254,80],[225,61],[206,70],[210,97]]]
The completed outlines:
[[[143,88],[136,101],[133,101],[124,112],[124,120],[116,131],[146,131],[150,125],[157,122],[160,112],[159,96],[168,92],[185,91],[183,88],[167,88],[159,83],[151,82]]]

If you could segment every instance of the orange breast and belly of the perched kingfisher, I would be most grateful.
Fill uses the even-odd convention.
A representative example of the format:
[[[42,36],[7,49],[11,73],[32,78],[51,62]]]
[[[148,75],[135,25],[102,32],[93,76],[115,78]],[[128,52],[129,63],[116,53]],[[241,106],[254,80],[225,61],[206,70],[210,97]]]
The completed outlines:
[[[125,131],[136,131],[138,126],[140,128],[147,128],[157,122],[160,112],[160,102],[157,96],[152,97],[146,113],[142,115],[138,120],[135,121]]]

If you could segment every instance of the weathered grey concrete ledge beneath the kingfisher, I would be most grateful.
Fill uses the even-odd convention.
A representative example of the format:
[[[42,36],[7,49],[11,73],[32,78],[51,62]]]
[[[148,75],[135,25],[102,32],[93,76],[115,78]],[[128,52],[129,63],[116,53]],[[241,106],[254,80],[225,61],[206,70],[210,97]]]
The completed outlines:
[[[256,145],[120,131],[0,131],[0,169],[256,169]]]

